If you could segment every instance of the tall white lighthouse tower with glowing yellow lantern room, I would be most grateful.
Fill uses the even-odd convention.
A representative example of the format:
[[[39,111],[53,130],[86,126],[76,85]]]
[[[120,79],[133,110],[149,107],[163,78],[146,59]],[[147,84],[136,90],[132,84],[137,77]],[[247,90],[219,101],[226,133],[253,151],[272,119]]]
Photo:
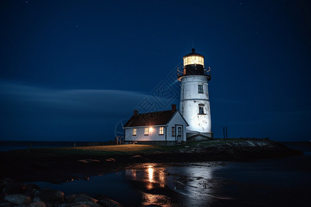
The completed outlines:
[[[186,119],[187,140],[212,139],[211,110],[207,81],[210,68],[204,66],[204,56],[192,52],[183,57],[183,71],[178,70],[180,85],[180,113]]]

